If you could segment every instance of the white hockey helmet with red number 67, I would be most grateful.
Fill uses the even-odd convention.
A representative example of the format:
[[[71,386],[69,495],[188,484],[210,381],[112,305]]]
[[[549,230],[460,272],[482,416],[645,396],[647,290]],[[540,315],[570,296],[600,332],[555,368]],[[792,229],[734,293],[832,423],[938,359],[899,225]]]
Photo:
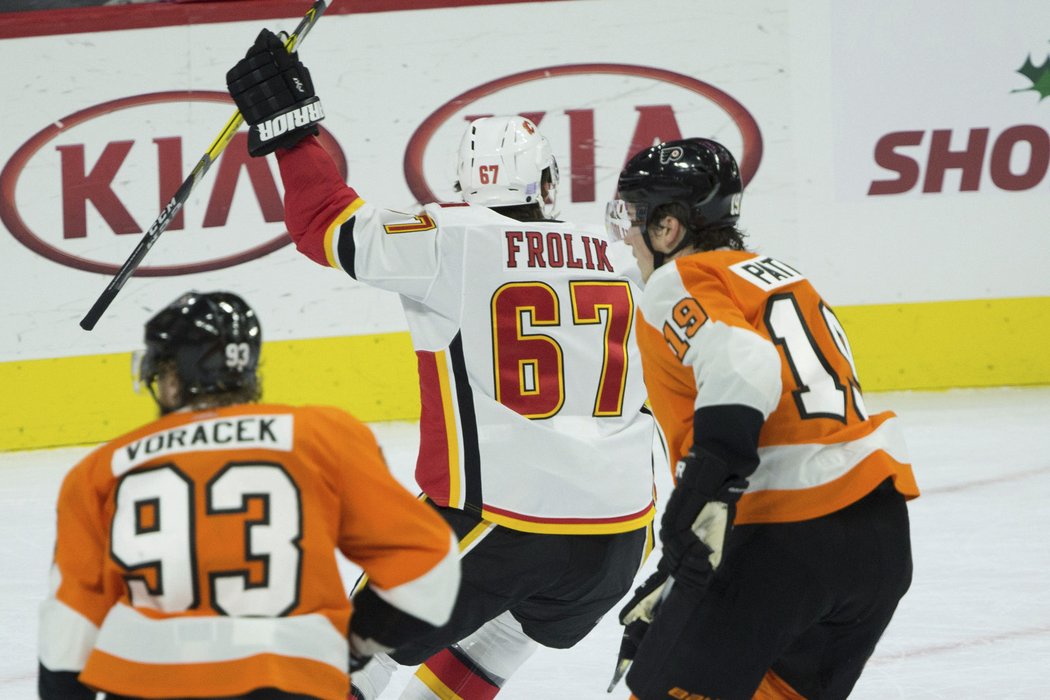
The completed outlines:
[[[471,205],[545,207],[542,181],[548,168],[552,199],[558,163],[547,137],[524,116],[483,116],[463,133],[456,175],[463,201]]]

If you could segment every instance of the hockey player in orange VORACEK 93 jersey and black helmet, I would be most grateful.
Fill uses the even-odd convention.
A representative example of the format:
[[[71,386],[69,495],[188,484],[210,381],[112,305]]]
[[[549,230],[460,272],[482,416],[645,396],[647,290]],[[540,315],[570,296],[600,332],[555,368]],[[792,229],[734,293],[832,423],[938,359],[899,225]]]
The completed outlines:
[[[260,333],[228,292],[146,324],[139,377],[161,417],[59,494],[43,700],[344,700],[349,672],[447,620],[450,529],[348,413],[256,403]],[[336,550],[371,580],[353,601]]]

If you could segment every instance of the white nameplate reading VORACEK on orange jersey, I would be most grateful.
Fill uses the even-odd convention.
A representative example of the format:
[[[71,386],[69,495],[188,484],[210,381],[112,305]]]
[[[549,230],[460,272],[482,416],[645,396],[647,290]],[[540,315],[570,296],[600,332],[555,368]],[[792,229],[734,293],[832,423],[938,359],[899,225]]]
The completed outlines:
[[[184,452],[264,448],[292,450],[291,416],[231,416],[196,421],[141,438],[113,452],[110,463],[119,476],[151,460]]]

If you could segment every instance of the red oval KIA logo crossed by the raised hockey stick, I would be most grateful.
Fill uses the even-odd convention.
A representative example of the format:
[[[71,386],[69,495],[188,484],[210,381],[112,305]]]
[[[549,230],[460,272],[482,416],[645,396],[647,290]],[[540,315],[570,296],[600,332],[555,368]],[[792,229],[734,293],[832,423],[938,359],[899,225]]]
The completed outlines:
[[[69,114],[30,137],[0,172],[0,220],[39,255],[116,274],[196,165],[184,163],[184,153],[202,157],[231,107],[225,92],[166,91]],[[291,242],[273,158],[251,158],[246,137],[234,135],[161,236],[152,257],[164,263],[143,264],[136,276],[219,270]],[[345,176],[338,143],[324,129],[320,140]]]

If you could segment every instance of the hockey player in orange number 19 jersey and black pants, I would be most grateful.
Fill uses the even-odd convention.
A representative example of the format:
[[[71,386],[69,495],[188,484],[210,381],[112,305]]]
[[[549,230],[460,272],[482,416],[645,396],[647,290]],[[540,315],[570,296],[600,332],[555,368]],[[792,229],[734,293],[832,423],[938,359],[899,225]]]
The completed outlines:
[[[733,155],[632,157],[610,229],[647,279],[646,385],[676,487],[657,572],[621,613],[637,698],[846,697],[911,579],[919,494],[845,331],[805,275],[749,251]]]

